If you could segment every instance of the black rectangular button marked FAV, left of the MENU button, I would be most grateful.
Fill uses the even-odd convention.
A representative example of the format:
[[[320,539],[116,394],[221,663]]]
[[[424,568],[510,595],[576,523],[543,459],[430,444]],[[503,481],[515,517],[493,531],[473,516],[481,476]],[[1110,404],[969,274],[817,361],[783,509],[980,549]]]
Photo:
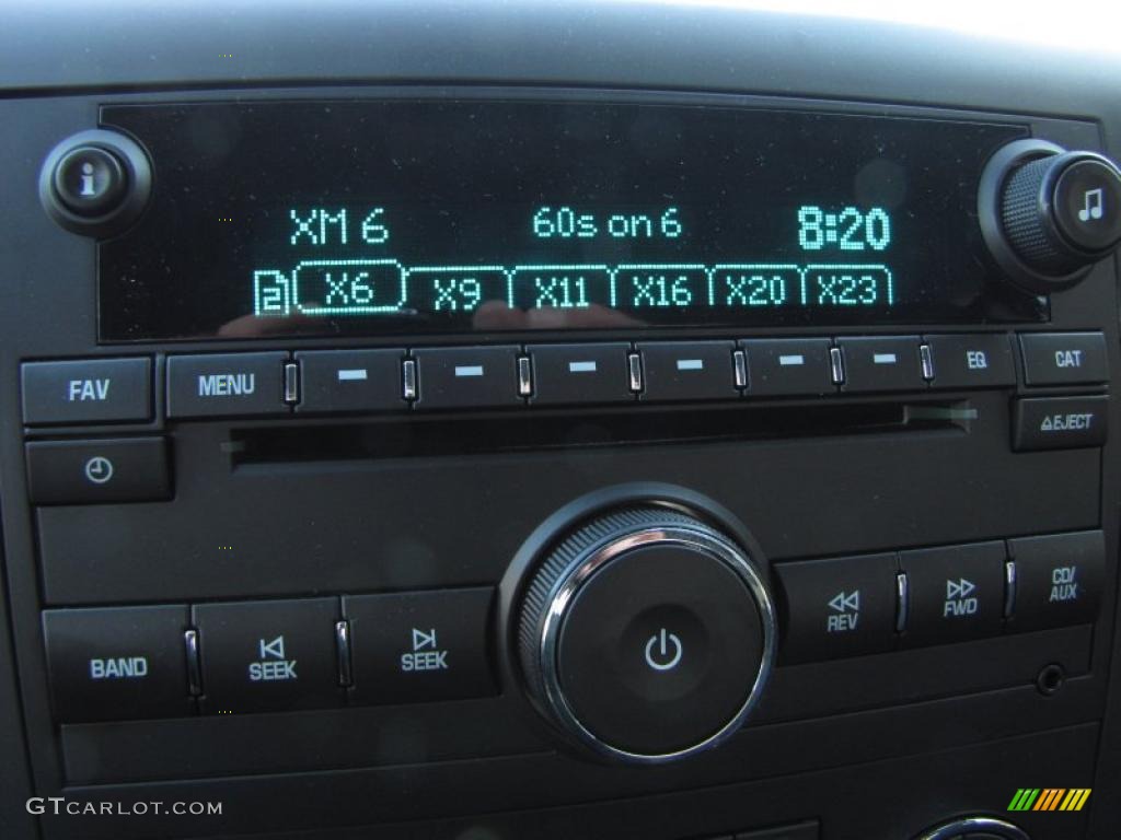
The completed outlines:
[[[24,422],[98,423],[151,417],[151,361],[85,358],[20,366]]]

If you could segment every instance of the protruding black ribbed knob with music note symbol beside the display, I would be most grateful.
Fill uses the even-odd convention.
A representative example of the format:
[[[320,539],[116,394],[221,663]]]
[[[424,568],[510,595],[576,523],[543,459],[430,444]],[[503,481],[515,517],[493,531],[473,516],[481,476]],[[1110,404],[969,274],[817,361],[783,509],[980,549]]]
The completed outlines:
[[[1019,140],[989,161],[979,217],[1015,283],[1034,293],[1069,288],[1121,244],[1121,170],[1091,151]]]

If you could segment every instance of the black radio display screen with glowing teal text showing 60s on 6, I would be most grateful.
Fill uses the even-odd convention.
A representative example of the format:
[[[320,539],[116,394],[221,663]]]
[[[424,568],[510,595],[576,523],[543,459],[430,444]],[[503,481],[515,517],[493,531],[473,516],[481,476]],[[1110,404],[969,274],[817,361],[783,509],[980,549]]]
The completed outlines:
[[[995,282],[1022,127],[712,105],[122,105],[151,203],[99,245],[103,342],[1039,320]]]

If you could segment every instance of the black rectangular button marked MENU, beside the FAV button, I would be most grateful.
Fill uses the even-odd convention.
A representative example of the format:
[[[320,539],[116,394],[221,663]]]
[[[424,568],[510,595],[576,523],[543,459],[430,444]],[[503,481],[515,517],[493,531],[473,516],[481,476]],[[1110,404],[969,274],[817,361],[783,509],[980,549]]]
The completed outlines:
[[[169,356],[167,416],[284,414],[287,353]]]

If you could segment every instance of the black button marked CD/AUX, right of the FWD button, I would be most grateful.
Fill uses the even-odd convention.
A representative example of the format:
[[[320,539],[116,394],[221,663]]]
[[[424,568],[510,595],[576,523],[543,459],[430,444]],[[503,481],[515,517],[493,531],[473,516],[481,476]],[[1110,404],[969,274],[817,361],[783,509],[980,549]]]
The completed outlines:
[[[1097,617],[1105,576],[1101,531],[1008,541],[1016,562],[1012,626],[1032,631],[1088,624]]]

